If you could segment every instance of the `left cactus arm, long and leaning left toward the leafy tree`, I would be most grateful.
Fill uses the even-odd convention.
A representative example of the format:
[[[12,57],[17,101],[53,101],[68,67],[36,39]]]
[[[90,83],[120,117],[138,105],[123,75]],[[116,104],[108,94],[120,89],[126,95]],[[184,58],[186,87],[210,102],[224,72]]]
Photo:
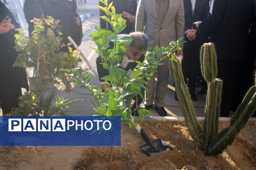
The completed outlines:
[[[169,61],[169,69],[175,82],[180,108],[189,128],[189,133],[195,143],[202,147],[204,146],[204,142],[201,140],[202,129],[195,116],[194,106],[184,81],[180,62],[173,54],[172,59]]]

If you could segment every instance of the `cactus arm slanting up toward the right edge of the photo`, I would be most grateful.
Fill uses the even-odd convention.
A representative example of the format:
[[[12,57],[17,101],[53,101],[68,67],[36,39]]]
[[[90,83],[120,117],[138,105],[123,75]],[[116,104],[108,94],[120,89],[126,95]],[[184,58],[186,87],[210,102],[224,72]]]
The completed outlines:
[[[239,105],[239,109],[237,109],[235,113],[236,116],[233,118],[232,122],[230,122],[230,126],[218,133],[212,139],[206,153],[208,155],[222,153],[222,151],[236,139],[236,135],[242,128],[244,128],[255,110],[256,86],[253,86],[247,92],[243,102]]]

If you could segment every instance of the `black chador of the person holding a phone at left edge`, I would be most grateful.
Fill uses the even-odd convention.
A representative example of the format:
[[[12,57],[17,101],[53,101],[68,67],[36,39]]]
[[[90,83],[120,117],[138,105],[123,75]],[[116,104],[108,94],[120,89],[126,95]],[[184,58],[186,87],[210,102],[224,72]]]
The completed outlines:
[[[6,16],[9,16],[11,23],[18,28],[11,11],[0,1],[0,21]],[[0,106],[3,114],[10,113],[12,108],[18,106],[21,88],[29,90],[24,68],[12,67],[17,57],[14,48],[16,33],[15,29],[11,29],[7,33],[0,34]]]

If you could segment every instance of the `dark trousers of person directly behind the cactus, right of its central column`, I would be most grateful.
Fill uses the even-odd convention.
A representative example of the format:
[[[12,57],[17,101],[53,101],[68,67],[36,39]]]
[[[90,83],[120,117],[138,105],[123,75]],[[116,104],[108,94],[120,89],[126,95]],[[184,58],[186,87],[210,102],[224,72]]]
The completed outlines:
[[[218,78],[223,80],[222,99],[221,99],[221,117],[227,117],[232,104],[235,102],[234,96],[238,93],[235,83],[242,83],[237,79],[241,59],[218,60]]]

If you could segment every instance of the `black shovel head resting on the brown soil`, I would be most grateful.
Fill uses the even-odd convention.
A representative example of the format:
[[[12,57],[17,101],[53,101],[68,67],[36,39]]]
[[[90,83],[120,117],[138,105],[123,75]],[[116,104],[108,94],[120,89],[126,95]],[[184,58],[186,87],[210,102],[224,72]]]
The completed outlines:
[[[156,149],[154,149],[151,144],[145,144],[143,146],[140,147],[140,150],[142,150],[143,152],[145,152],[148,156],[150,156],[150,153],[159,153],[162,151],[170,151],[173,150],[173,148],[167,144],[166,142],[164,142],[162,139],[157,139],[152,141],[152,144],[154,145]]]

